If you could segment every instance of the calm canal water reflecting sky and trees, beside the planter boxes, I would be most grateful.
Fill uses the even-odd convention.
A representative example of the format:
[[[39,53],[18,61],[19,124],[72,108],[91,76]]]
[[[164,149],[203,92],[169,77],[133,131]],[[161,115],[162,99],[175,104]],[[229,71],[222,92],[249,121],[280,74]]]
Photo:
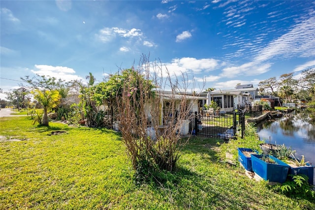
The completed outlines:
[[[296,150],[296,158],[304,155],[305,161],[315,165],[315,119],[306,112],[287,113],[282,118],[259,123],[257,133],[266,143],[270,137],[271,143],[291,146]]]

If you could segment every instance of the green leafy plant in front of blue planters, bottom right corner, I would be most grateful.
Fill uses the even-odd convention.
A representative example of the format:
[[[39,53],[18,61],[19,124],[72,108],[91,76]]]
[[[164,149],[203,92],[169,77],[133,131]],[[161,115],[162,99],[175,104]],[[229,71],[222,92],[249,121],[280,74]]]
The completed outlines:
[[[309,185],[309,177],[306,175],[289,175],[292,180],[284,182],[282,185],[271,186],[277,192],[292,198],[306,199],[310,202],[315,202],[315,191]]]

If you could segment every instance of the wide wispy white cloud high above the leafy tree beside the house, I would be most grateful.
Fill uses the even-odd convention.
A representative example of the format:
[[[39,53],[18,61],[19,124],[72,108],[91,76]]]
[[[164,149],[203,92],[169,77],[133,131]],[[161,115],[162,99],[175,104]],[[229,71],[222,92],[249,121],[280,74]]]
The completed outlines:
[[[96,37],[102,42],[109,42],[112,39],[119,35],[121,37],[130,38],[130,37],[142,37],[142,32],[140,29],[121,29],[121,28],[103,28],[99,30]]]

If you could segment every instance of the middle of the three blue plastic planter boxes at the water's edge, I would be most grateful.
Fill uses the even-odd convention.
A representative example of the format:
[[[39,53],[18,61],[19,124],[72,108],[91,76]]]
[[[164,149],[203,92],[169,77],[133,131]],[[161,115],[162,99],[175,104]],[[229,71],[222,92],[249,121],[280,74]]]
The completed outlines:
[[[273,159],[276,163],[267,163],[260,158],[262,156]],[[289,171],[289,165],[283,161],[271,156],[271,155],[251,155],[252,158],[252,171],[262,177],[265,180],[284,183],[287,173]]]

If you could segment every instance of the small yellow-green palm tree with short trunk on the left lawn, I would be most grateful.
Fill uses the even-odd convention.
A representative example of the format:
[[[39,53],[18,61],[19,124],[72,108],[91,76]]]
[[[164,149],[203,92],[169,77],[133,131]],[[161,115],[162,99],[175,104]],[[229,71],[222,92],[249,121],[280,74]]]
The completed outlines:
[[[59,94],[58,90],[40,91],[38,89],[36,89],[33,92],[33,94],[34,94],[34,99],[36,99],[37,102],[44,107],[42,125],[49,126],[47,111],[52,108],[55,108],[60,103],[61,95]]]

